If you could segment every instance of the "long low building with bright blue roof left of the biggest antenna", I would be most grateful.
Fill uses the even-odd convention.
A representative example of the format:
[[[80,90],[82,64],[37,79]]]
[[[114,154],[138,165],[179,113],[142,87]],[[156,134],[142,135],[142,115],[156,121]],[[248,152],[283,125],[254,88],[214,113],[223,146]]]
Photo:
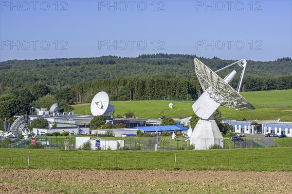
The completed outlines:
[[[181,133],[183,130],[187,130],[187,128],[181,125],[165,125],[165,126],[146,126],[146,127],[134,127],[132,129],[139,129],[143,130],[145,133],[160,133],[162,134],[163,131],[173,133],[175,130],[178,130]]]

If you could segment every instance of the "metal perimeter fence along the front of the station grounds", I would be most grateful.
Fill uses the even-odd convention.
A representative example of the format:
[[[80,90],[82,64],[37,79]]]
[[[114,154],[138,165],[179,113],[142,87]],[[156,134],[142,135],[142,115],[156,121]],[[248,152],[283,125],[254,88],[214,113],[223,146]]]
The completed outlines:
[[[37,136],[37,145],[31,145],[31,140],[21,140],[13,144],[9,144],[10,148],[38,148],[38,149],[64,149],[64,140],[69,140],[69,146],[71,149],[77,149],[74,136]],[[103,138],[101,138],[103,139]],[[107,138],[111,139],[111,138]],[[180,137],[176,140],[172,140],[169,136],[156,136],[156,137],[127,137],[127,138],[112,138],[114,140],[124,140],[124,146],[119,147],[120,150],[189,150],[194,149],[193,145],[190,145],[189,141],[185,141]],[[204,149],[234,149],[234,148],[252,148],[252,147],[276,147],[277,144],[271,142],[270,145],[263,144],[259,139],[247,140],[241,142],[234,142],[231,139],[224,138],[223,147],[216,145],[202,146]],[[284,142],[278,146],[290,146]]]

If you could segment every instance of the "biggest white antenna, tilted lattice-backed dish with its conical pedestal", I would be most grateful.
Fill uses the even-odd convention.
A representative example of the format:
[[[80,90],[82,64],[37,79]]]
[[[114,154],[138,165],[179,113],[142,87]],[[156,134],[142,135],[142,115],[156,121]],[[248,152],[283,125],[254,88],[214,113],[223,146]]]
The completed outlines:
[[[235,90],[229,85],[237,73],[235,70],[224,79],[216,74],[216,72],[226,69],[231,65],[227,65],[213,72],[197,58],[195,58],[194,61],[195,71],[204,93],[192,106],[194,113],[196,113],[200,119],[191,134],[191,144],[195,145],[195,149],[208,149],[209,146],[214,144],[223,147],[223,137],[213,118],[213,113],[216,109],[220,105],[236,110],[255,109],[253,105],[239,94],[247,62],[245,59],[241,59],[231,64],[237,64],[243,68],[237,84],[237,90]]]

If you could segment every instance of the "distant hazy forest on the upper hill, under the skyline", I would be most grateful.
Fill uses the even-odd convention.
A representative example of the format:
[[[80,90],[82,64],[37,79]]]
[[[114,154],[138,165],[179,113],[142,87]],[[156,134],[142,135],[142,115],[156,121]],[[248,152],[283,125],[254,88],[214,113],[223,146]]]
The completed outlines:
[[[213,70],[236,61],[222,60],[218,57],[207,59],[196,55],[167,53],[145,54],[131,58],[101,56],[70,59],[9,60],[0,62],[0,92],[10,88],[30,86],[38,81],[48,86],[63,87],[80,82],[117,79],[129,75],[146,77],[148,75],[173,74],[175,77],[189,77],[195,74],[193,60],[195,57]],[[241,70],[237,65],[231,69]],[[230,71],[230,69],[227,71]],[[246,75],[251,77],[291,76],[291,72],[292,60],[290,57],[268,62],[248,60],[248,68],[246,69]]]

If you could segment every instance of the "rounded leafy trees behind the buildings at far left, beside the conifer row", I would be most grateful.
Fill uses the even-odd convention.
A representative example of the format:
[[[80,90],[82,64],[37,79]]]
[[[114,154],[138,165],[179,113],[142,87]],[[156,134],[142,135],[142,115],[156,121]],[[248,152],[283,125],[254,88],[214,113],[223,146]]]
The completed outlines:
[[[35,114],[35,108],[49,108],[54,103],[59,103],[60,112],[70,112],[75,92],[72,88],[50,88],[40,82],[30,87],[20,87],[0,94],[0,130],[4,130],[4,119],[12,124],[15,115]]]

